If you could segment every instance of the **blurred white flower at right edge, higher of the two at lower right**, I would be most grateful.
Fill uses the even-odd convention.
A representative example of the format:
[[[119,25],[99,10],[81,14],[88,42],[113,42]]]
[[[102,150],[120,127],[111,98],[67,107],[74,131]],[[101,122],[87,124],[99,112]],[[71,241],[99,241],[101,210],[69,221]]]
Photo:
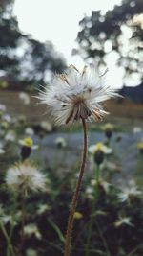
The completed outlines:
[[[117,195],[119,201],[124,202],[130,198],[136,198],[142,195],[142,192],[137,189],[137,187],[126,187]]]

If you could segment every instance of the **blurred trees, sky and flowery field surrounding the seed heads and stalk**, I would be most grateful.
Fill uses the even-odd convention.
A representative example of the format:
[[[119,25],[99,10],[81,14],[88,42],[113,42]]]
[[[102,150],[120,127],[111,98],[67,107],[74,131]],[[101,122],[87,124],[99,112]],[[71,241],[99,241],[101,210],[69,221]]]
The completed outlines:
[[[0,0],[0,35],[0,256],[63,255],[81,127],[54,127],[33,96],[70,64],[82,70],[91,63],[100,74],[108,68],[107,82],[123,98],[105,103],[110,115],[103,122],[88,124],[89,147],[95,148],[75,216],[72,256],[142,256],[143,0]],[[26,156],[23,147],[29,148]],[[89,235],[98,150],[104,161]],[[13,207],[6,176],[25,158],[48,185],[24,198],[22,220],[21,195]]]

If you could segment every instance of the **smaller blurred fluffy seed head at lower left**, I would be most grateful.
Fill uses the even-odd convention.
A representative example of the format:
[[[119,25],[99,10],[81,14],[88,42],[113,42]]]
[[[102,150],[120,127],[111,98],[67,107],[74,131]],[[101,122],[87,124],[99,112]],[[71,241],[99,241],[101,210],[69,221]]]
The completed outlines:
[[[27,162],[17,163],[8,169],[6,183],[14,190],[43,190],[45,189],[46,177]]]

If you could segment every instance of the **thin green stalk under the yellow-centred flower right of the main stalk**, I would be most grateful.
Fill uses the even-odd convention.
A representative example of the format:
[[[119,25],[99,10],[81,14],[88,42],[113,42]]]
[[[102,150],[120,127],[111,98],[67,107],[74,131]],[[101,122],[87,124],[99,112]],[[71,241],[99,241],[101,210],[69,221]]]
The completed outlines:
[[[89,230],[88,230],[88,238],[87,238],[87,244],[86,244],[86,254],[85,256],[89,256],[89,246],[90,246],[90,242],[91,242],[91,237],[92,237],[92,224],[93,224],[93,218],[94,218],[94,208],[95,208],[95,203],[96,203],[96,199],[98,197],[98,182],[99,182],[99,166],[97,166],[96,170],[95,170],[95,187],[94,187],[94,198],[92,200],[92,216],[91,216],[91,220],[89,223]]]

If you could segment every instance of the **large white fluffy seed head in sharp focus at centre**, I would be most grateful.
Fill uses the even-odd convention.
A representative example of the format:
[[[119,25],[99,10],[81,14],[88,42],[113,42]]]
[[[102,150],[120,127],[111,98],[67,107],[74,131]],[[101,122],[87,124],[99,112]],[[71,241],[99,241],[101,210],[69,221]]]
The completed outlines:
[[[93,66],[85,66],[80,73],[70,66],[65,74],[55,75],[39,99],[48,105],[57,125],[70,124],[80,119],[99,121],[107,114],[100,103],[115,97],[115,90],[105,84]]]

